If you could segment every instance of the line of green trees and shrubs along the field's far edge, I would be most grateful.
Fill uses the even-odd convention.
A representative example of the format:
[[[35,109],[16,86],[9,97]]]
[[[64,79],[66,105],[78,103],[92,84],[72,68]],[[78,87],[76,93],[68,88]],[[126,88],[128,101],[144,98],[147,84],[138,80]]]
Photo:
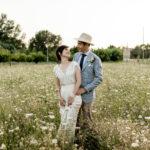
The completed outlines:
[[[27,45],[24,42],[26,34],[22,32],[21,26],[9,20],[6,14],[0,16],[0,62],[40,62],[57,61],[56,49],[62,44],[60,35],[55,35],[48,30],[38,31],[34,37],[29,40]],[[150,46],[137,46],[131,51],[131,57],[150,57]],[[148,49],[148,50],[147,50]],[[77,47],[71,48],[71,58],[77,52]],[[102,61],[118,61],[123,59],[123,50],[115,46],[109,46],[106,49],[93,49]]]

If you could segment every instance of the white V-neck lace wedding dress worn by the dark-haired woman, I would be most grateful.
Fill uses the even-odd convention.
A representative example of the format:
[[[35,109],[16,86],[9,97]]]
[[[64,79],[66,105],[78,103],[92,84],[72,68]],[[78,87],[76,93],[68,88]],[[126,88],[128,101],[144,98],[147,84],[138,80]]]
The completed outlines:
[[[69,141],[72,141],[75,135],[76,121],[79,109],[82,104],[81,96],[75,96],[74,102],[72,105],[68,106],[68,97],[71,96],[75,88],[75,68],[79,67],[78,63],[72,61],[66,72],[64,73],[59,65],[54,67],[55,76],[59,79],[61,85],[61,96],[66,101],[66,106],[60,107],[60,115],[61,115],[61,123],[58,129],[58,136],[62,136],[65,134],[65,137]]]

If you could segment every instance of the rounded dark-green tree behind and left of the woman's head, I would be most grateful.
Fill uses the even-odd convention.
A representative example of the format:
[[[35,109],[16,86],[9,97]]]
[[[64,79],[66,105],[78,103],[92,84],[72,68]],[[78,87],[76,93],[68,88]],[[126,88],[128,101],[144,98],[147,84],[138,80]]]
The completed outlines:
[[[31,51],[42,51],[47,54],[47,50],[53,51],[62,42],[60,35],[55,35],[48,30],[42,30],[35,34],[29,42],[29,49]]]

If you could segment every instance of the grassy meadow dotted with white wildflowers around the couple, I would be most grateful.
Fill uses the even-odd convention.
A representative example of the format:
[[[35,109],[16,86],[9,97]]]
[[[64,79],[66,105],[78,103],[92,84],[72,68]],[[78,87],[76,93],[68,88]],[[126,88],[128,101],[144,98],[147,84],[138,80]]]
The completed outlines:
[[[60,149],[54,65],[0,64],[0,149]],[[150,63],[103,63],[92,115],[101,149],[150,149]]]

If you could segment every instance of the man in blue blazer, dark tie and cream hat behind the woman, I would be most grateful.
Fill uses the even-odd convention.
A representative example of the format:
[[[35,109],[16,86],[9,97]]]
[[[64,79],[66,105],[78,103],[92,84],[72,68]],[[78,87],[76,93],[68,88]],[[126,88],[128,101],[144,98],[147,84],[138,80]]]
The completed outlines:
[[[73,60],[80,65],[82,77],[82,83],[77,92],[77,95],[82,96],[82,106],[77,118],[77,127],[79,127],[81,126],[81,113],[86,125],[92,121],[91,105],[94,99],[94,89],[102,82],[102,64],[100,58],[90,51],[90,46],[93,45],[90,35],[82,33],[76,40],[79,52],[74,55]]]

